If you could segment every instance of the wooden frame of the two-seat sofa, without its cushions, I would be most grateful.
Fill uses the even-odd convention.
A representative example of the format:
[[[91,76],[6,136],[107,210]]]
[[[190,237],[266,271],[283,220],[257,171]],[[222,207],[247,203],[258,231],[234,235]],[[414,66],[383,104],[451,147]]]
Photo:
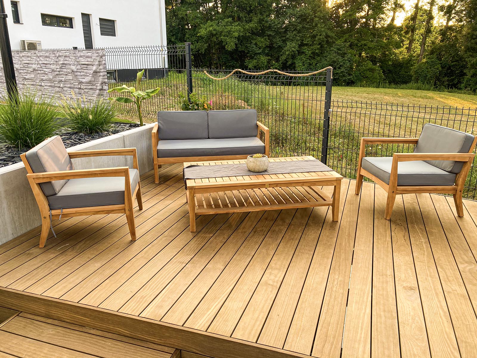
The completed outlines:
[[[262,123],[257,122],[258,134],[257,137],[260,138],[260,131],[265,134],[265,155],[270,157],[270,129],[264,126]],[[157,144],[159,143],[159,133],[157,133],[159,125],[156,123],[152,129],[152,158],[154,162],[154,181],[156,184],[159,184],[159,168],[162,164],[169,163],[184,163],[184,162],[201,162],[201,161],[212,161],[212,160],[235,160],[235,159],[246,159],[249,155],[232,155],[232,156],[210,156],[210,157],[175,157],[175,158],[158,158],[157,157]]]

